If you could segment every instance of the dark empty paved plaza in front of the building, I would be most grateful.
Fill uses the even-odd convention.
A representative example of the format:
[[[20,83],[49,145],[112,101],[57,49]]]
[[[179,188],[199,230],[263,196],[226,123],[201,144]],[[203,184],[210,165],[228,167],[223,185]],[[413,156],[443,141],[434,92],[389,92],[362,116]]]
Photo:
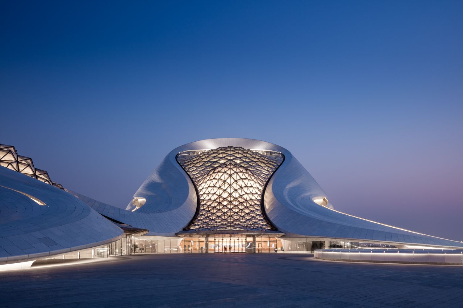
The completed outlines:
[[[150,254],[0,272],[0,307],[463,307],[463,266]]]

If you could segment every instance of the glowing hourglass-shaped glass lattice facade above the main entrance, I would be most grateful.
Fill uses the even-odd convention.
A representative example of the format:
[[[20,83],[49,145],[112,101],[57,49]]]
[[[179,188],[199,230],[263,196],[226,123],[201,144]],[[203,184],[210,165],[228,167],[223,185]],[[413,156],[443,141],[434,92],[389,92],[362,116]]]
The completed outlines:
[[[263,191],[283,158],[275,151],[233,146],[179,153],[177,162],[199,197],[186,230],[275,230],[263,214]]]

